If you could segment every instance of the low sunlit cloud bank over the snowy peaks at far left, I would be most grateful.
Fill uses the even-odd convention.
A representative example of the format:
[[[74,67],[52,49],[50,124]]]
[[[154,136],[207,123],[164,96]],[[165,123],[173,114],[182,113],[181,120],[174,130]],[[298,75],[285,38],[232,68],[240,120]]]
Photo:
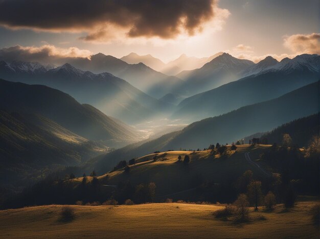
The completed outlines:
[[[0,49],[0,60],[4,61],[25,61],[54,64],[59,60],[83,57],[92,55],[89,50],[77,47],[60,48],[53,45],[35,46],[12,46]]]

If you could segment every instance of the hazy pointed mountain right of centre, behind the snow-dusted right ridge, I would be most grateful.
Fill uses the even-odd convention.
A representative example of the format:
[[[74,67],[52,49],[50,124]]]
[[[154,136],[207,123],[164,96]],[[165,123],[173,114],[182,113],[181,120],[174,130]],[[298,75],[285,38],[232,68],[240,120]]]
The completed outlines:
[[[199,69],[182,71],[176,76],[186,81],[188,85],[183,89],[193,95],[235,81],[243,70],[252,65],[251,61],[223,53]]]

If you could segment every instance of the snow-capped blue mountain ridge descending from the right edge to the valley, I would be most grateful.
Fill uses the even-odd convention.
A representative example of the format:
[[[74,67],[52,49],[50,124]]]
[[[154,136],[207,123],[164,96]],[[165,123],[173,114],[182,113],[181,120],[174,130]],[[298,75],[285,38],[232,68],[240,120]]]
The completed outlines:
[[[279,97],[318,81],[320,70],[311,67],[310,63],[306,63],[305,58],[314,66],[320,60],[318,55],[296,57],[287,61],[278,70],[272,69],[250,75],[216,89],[191,96],[180,102],[179,109],[173,118],[188,117],[190,119],[192,115],[191,119],[199,120],[224,114],[244,105]]]

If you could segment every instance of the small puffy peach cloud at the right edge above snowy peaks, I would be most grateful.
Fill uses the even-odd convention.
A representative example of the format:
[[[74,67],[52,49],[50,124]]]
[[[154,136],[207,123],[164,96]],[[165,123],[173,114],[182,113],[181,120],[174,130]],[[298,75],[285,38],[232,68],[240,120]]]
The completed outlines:
[[[286,36],[284,46],[295,54],[320,54],[320,33]]]

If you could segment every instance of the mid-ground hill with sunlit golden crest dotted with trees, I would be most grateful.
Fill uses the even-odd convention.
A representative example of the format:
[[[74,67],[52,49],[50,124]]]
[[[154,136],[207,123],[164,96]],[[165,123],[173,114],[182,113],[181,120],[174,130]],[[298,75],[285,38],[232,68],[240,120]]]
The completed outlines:
[[[132,185],[138,185],[141,182],[154,182],[157,186],[155,196],[158,201],[168,197],[178,200],[182,195],[184,195],[184,200],[192,201],[195,200],[192,198],[192,193],[189,192],[187,195],[176,193],[194,190],[199,183],[204,181],[224,183],[231,175],[237,178],[246,170],[252,170],[258,178],[268,178],[269,176],[256,165],[246,160],[244,153],[250,152],[252,160],[256,160],[269,147],[270,145],[260,145],[256,148],[252,148],[250,145],[241,145],[237,152],[232,151],[225,156],[212,155],[211,150],[151,153],[136,158],[135,164],[130,166],[129,173],[120,169],[99,176],[98,179],[101,183],[110,185],[119,185],[120,182],[126,181],[130,181]],[[228,148],[230,149],[230,146]],[[178,162],[179,155],[182,156],[182,160],[185,155],[190,156],[188,166]],[[156,156],[156,160],[153,159],[154,156]],[[163,195],[168,196],[164,197]]]

